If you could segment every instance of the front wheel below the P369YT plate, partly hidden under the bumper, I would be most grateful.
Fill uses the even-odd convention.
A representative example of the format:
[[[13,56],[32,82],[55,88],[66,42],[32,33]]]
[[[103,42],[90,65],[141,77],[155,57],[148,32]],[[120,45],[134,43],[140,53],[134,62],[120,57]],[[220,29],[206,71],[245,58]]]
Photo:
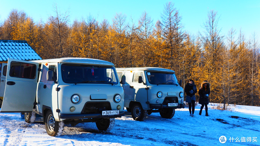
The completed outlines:
[[[97,129],[101,131],[110,131],[115,125],[115,118],[103,119],[96,122]]]

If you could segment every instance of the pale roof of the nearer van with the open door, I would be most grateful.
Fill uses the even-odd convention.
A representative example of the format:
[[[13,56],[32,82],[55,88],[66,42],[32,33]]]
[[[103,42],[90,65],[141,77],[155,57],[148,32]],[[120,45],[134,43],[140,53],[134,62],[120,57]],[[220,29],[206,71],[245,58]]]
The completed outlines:
[[[99,59],[92,59],[92,58],[56,58],[56,59],[33,60],[33,62],[38,62],[38,63],[62,62],[62,63],[97,64],[97,65],[114,66],[114,64],[111,62],[99,60]]]

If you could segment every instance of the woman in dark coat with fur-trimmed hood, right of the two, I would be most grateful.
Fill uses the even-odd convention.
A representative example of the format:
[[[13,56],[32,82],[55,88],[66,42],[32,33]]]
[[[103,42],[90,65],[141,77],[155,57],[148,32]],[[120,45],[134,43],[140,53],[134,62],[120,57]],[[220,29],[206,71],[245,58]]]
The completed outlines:
[[[210,83],[207,81],[203,81],[199,88],[199,104],[201,104],[199,115],[202,113],[202,109],[205,105],[206,115],[208,115],[208,104],[209,104],[209,95],[210,95]]]

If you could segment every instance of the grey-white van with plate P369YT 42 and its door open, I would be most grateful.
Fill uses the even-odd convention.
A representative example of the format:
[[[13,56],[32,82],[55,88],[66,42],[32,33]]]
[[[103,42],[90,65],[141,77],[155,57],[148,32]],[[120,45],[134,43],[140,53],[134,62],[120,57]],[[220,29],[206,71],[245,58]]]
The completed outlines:
[[[1,113],[22,112],[28,123],[35,122],[39,114],[50,136],[60,136],[64,123],[95,122],[99,130],[109,131],[115,118],[125,115],[123,97],[111,62],[9,58]]]

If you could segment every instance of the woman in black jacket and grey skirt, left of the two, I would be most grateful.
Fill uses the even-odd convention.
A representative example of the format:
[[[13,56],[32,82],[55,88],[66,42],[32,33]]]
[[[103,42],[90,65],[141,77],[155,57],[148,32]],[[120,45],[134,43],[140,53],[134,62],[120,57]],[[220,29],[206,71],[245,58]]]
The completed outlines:
[[[187,84],[184,87],[184,91],[186,93],[186,102],[189,103],[190,116],[194,117],[195,93],[197,93],[197,88],[192,79],[188,80]],[[192,108],[192,114],[191,114],[191,108]]]

